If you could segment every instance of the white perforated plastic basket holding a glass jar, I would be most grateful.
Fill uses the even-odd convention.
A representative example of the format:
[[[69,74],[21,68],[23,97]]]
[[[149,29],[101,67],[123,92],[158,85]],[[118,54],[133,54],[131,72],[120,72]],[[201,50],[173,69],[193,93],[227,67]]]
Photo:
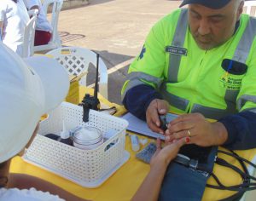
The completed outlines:
[[[101,129],[103,133],[115,130],[116,134],[93,150],[82,150],[44,136],[59,134],[63,120],[67,129],[89,125]],[[127,126],[128,122],[124,119],[93,110],[90,110],[89,122],[84,123],[82,106],[63,102],[40,123],[38,135],[23,158],[83,187],[98,187],[130,158],[129,152],[125,151]]]

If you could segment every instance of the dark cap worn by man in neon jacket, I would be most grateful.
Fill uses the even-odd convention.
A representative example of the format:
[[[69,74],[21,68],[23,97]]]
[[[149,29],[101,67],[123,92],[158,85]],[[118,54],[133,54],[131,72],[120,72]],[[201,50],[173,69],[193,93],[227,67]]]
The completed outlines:
[[[183,3],[180,4],[179,7],[183,7],[183,5],[196,3],[206,6],[210,9],[221,9],[226,4],[230,3],[231,0],[183,0]]]

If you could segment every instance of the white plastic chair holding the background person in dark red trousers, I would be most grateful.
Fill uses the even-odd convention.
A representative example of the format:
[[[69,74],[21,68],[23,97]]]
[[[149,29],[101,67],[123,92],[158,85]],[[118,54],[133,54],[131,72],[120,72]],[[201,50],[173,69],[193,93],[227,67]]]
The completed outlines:
[[[52,4],[51,16],[50,16],[50,25],[52,26],[53,30],[51,33],[51,38],[48,44],[34,46],[34,51],[43,51],[48,49],[56,49],[61,48],[61,37],[58,33],[58,21],[59,21],[59,14],[61,12],[63,0],[44,0],[43,9],[45,14],[47,14],[47,10],[49,5]]]

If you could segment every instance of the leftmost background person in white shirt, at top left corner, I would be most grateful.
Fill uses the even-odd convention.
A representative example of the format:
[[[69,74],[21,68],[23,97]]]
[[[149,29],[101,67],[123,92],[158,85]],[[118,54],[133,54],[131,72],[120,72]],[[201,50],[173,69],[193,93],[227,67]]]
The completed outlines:
[[[4,44],[22,55],[22,45],[29,16],[23,0],[0,0],[0,27]]]

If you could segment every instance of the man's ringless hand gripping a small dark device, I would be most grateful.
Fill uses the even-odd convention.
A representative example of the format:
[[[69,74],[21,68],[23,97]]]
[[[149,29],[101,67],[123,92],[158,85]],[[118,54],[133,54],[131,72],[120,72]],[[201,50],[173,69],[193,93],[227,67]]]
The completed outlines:
[[[160,129],[159,115],[165,115],[169,110],[169,104],[166,100],[154,99],[150,102],[146,111],[146,119],[149,129],[156,133],[164,135],[164,131]]]

